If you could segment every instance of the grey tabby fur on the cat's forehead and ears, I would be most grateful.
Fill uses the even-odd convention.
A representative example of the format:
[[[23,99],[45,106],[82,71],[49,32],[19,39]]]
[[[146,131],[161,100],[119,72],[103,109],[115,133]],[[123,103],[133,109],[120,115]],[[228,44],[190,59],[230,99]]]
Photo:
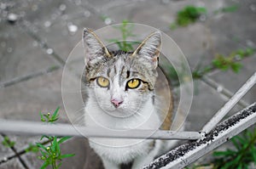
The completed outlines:
[[[84,29],[84,51],[85,64],[84,70],[85,84],[90,86],[91,80],[96,76],[104,75],[112,78],[119,73],[120,82],[124,82],[128,77],[137,77],[148,84],[148,90],[153,91],[157,77],[156,66],[160,48],[160,32],[156,31],[143,42],[134,53],[123,51],[111,51],[102,46],[102,42]],[[108,54],[104,50],[108,51]],[[116,72],[116,62],[121,60],[121,72]]]

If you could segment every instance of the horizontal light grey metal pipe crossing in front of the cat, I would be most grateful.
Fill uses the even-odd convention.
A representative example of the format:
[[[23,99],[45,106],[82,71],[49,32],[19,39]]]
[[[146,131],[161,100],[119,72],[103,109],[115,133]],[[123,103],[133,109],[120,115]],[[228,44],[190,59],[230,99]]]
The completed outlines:
[[[199,132],[164,130],[109,130],[96,127],[74,127],[70,124],[42,124],[32,121],[0,120],[0,132],[18,135],[55,135],[86,138],[148,138],[148,139],[199,139]]]

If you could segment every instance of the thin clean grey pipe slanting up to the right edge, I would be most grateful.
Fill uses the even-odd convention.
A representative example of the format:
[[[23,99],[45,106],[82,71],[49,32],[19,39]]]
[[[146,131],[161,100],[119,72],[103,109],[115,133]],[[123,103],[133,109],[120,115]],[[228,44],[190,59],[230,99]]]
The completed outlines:
[[[212,117],[210,121],[207,122],[205,127],[202,128],[201,132],[209,133],[213,127],[215,127],[219,121],[227,115],[229,111],[236,105],[236,103],[250,90],[251,87],[256,83],[256,71],[253,76],[251,76],[246,83],[230,98],[230,100],[224,104],[224,106],[218,110],[218,112]]]

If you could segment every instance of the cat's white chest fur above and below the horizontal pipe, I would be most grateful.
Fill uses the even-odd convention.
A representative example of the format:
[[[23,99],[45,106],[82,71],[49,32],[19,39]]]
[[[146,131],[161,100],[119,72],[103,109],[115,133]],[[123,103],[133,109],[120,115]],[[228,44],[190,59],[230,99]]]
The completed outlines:
[[[85,124],[90,127],[107,127],[109,129],[151,129],[160,127],[160,117],[154,109],[151,100],[144,105],[138,115],[127,118],[117,118],[93,106],[93,100],[88,100],[85,108]],[[90,138],[90,146],[102,158],[115,163],[129,162],[138,155],[145,155],[152,149],[152,140],[120,139],[120,138]]]

